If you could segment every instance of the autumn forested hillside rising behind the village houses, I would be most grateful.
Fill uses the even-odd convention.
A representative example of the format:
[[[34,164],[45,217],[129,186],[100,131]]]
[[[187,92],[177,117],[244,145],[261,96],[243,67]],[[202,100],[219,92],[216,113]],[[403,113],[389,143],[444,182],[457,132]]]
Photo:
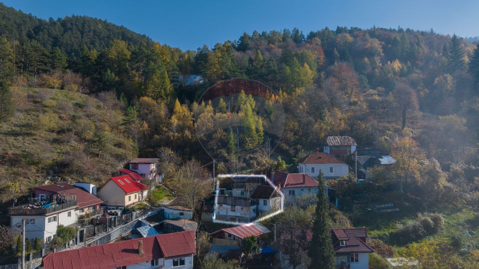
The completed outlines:
[[[188,74],[205,83],[183,86],[178,75]],[[223,99],[199,102],[209,86],[235,77],[260,81],[274,94],[260,104],[241,92],[229,100],[237,111]],[[371,184],[356,184],[353,175],[333,183],[354,225],[371,227],[381,248],[391,244],[401,255],[437,261],[429,268],[441,268],[439,255],[454,265],[477,260],[468,255],[479,249],[479,44],[459,36],[401,27],[308,34],[294,28],[182,51],[103,20],[45,21],[0,5],[0,80],[2,201],[48,176],[99,184],[133,156],[160,158],[171,188],[195,171],[207,179],[200,168],[212,173],[212,160],[199,140],[218,157],[215,174],[297,172],[297,160],[322,148],[327,136],[347,135],[358,148],[379,148],[397,160],[372,169]],[[272,99],[284,108],[280,137],[267,131],[278,117]],[[215,122],[232,119],[240,123],[236,130],[214,130]],[[272,158],[269,142],[278,144]],[[369,204],[398,201],[399,214],[414,221],[371,218],[370,205],[354,204],[353,196]],[[444,222],[441,216],[411,217],[417,212],[449,214],[447,229],[458,228],[458,215],[472,235],[454,241],[450,230],[432,229],[431,219]],[[408,245],[423,239],[425,247]],[[422,258],[426,252],[435,259]]]

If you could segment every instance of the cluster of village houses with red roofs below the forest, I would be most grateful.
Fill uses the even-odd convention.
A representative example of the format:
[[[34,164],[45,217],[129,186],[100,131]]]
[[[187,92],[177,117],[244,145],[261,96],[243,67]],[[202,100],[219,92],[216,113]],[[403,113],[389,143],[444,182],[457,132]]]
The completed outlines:
[[[325,199],[331,206],[340,207],[342,201],[338,202],[331,182],[353,175],[358,165],[361,171],[367,171],[368,167],[358,159],[365,157],[369,161],[388,156],[388,161],[394,162],[387,153],[378,158],[358,156],[361,150],[356,147],[351,137],[328,137],[323,152],[310,153],[298,161],[299,173],[276,171],[270,177],[210,178],[212,193],[203,201],[200,211],[175,203],[175,198],[164,204],[150,204],[148,193],[165,188],[162,181],[167,179],[159,170],[158,158],[134,158],[99,187],[57,179],[35,187],[27,204],[8,208],[10,228],[24,225],[27,242],[42,242],[35,247],[38,249],[28,251],[26,261],[32,264],[41,261],[39,265],[45,269],[194,268],[200,234],[207,235],[203,244],[209,246],[202,250],[203,255],[217,253],[221,259],[248,266],[278,263],[281,268],[298,268],[300,263],[291,258],[297,254],[288,248],[278,248],[277,243],[289,245],[293,238],[303,238],[307,243],[312,239],[312,231],[271,227],[267,220],[297,203],[315,203],[320,197],[318,180],[326,184]],[[377,150],[367,150],[368,154],[371,152]],[[371,167],[389,165],[381,161],[370,163]],[[356,181],[367,184],[365,178]],[[392,201],[383,204],[393,207]],[[367,244],[366,228],[334,228],[330,234],[337,268],[369,268],[369,255],[374,250]],[[254,251],[249,249],[251,244]],[[92,265],[98,255],[95,253],[113,259]],[[41,260],[33,258],[38,255]],[[78,264],[70,257],[80,257],[84,262]]]

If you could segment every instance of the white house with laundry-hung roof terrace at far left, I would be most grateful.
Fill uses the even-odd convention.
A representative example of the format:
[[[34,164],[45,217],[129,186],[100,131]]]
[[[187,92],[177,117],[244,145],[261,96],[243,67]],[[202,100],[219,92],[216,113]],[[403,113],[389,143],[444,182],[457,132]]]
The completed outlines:
[[[56,235],[58,225],[75,226],[85,215],[101,214],[103,203],[87,190],[68,183],[36,187],[32,196],[28,204],[8,209],[10,227],[13,229],[26,219],[25,237],[47,243]]]

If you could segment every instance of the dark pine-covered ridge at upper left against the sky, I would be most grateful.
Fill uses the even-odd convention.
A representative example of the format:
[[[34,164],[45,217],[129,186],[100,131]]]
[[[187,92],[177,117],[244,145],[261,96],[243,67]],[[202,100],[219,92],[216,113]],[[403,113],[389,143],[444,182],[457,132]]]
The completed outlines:
[[[80,54],[86,45],[89,49],[102,50],[115,39],[124,40],[133,45],[152,40],[146,35],[135,33],[123,26],[106,20],[87,16],[67,16],[48,21],[25,14],[20,10],[0,3],[0,36],[8,40],[36,40],[50,50],[58,47],[68,56]]]

